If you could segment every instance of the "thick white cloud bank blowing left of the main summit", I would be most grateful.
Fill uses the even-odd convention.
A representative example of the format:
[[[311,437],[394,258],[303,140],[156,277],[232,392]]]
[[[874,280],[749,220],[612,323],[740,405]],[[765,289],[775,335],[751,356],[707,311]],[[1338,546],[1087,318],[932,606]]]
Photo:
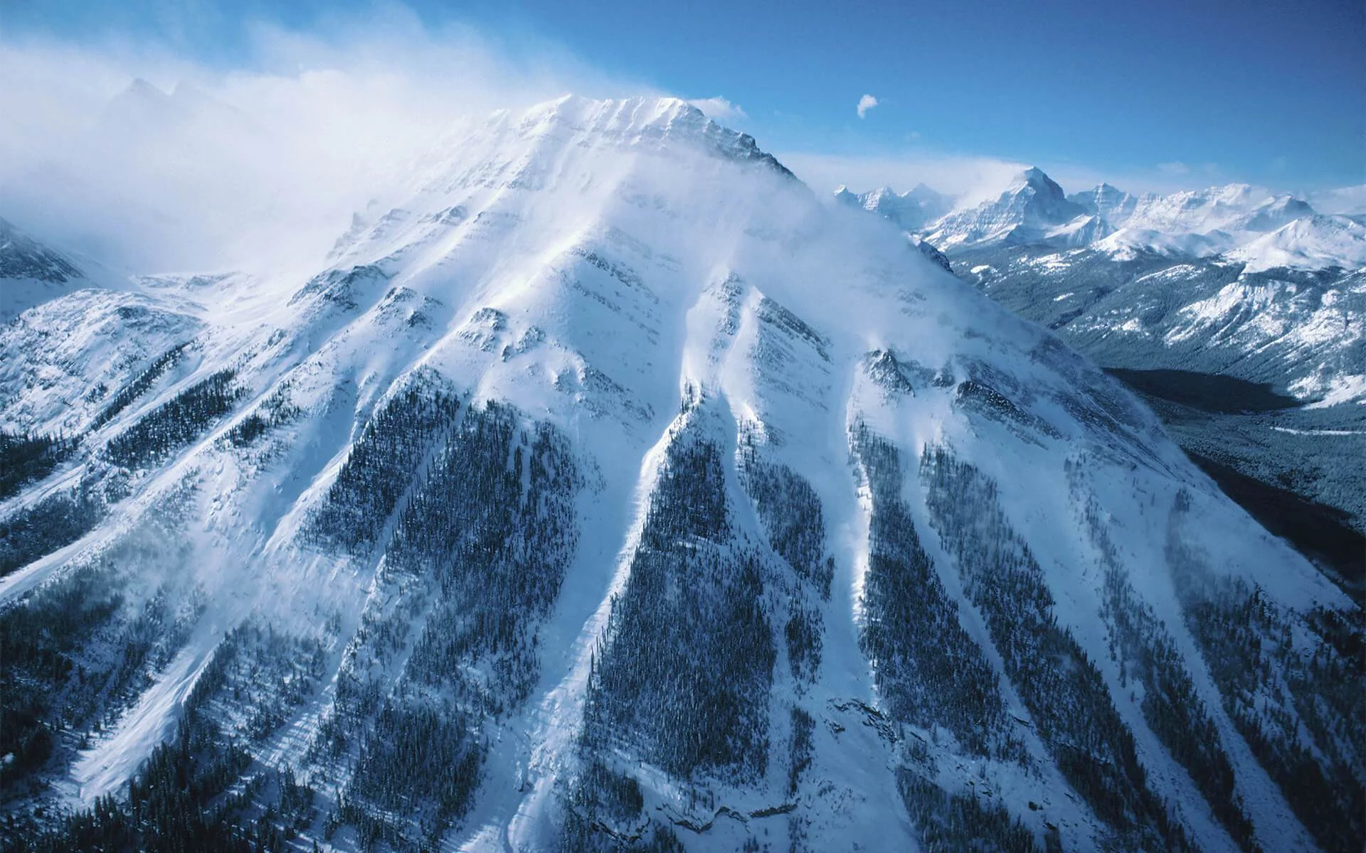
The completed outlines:
[[[138,272],[307,262],[459,121],[566,91],[650,94],[555,45],[395,7],[253,33],[228,71],[153,44],[0,42],[0,217]]]

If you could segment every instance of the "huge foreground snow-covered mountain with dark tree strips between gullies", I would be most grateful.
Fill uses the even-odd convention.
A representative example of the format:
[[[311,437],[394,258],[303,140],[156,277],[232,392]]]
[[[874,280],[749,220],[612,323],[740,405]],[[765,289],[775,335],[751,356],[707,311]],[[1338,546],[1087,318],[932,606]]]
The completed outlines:
[[[0,330],[0,831],[1361,846],[1361,609],[1056,337],[678,100],[415,187]]]

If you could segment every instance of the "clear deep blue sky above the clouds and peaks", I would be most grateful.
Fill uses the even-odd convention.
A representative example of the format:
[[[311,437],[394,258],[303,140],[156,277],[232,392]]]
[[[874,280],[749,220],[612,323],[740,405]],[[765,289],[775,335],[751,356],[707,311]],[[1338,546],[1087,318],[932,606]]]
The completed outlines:
[[[340,5],[0,0],[0,40],[117,41],[225,71],[255,61],[261,22],[325,34],[395,14]],[[473,26],[515,61],[553,48],[612,79],[724,97],[765,147],[831,162],[982,157],[1072,184],[1366,183],[1361,0],[407,7],[432,31]],[[861,119],[865,94],[877,106]]]

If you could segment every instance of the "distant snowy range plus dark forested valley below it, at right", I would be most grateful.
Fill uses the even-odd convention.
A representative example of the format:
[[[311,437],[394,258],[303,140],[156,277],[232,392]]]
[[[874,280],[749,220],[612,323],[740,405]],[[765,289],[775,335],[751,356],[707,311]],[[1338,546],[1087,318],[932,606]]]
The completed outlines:
[[[1040,169],[928,221],[889,190],[836,198],[1123,379],[1231,497],[1366,594],[1366,469],[1343,464],[1366,459],[1366,207],[1246,184],[1064,195]]]

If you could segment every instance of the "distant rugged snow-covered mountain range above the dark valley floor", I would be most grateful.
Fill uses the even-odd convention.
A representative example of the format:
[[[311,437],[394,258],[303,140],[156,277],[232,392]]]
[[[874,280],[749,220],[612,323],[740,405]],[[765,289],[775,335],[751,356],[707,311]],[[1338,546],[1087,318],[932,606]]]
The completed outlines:
[[[1126,364],[1232,371],[1306,403],[1366,400],[1366,308],[1354,284],[1366,269],[1366,229],[1351,216],[1320,214],[1305,199],[1247,184],[1131,195],[1102,183],[1064,198],[1029,169],[999,198],[912,233],[1093,358],[1097,341],[1074,332],[1105,337],[1105,358],[1132,345]],[[1285,287],[1268,291],[1266,280]],[[1250,302],[1229,302],[1240,299]],[[1213,314],[1212,304],[1220,306]],[[1328,325],[1321,308],[1332,314]],[[1223,319],[1197,319],[1216,315]],[[1154,348],[1164,355],[1154,358]]]

